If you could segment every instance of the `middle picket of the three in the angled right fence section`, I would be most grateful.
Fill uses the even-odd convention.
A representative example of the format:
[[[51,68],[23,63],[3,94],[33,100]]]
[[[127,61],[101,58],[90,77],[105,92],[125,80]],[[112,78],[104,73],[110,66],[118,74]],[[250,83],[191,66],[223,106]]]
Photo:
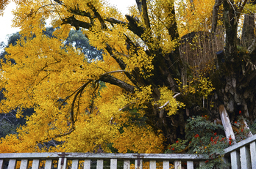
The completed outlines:
[[[249,148],[243,146],[240,148],[240,160],[241,160],[241,169],[251,168],[251,157]]]

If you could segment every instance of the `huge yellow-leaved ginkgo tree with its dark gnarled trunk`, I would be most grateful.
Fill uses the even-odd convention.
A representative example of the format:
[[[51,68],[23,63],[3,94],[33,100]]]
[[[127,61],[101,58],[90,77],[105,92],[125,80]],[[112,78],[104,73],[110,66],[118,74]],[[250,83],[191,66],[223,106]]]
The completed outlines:
[[[1,62],[0,108],[35,113],[0,152],[160,153],[190,116],[220,119],[219,105],[231,121],[256,117],[254,1],[136,0],[127,15],[104,0],[15,3],[22,36]],[[66,45],[72,29],[102,59]]]

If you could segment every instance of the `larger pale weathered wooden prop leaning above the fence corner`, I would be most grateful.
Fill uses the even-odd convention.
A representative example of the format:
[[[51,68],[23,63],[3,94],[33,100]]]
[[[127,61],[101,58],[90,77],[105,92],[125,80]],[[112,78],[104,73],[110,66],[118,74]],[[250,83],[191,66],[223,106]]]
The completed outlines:
[[[225,131],[225,135],[227,140],[229,138],[232,138],[233,141],[235,141],[235,134],[233,132],[231,123],[230,123],[230,118],[227,115],[227,110],[224,107],[224,105],[220,105],[218,107],[218,111],[219,111],[219,115],[221,116],[221,121],[222,121],[222,125],[224,127],[224,131]]]

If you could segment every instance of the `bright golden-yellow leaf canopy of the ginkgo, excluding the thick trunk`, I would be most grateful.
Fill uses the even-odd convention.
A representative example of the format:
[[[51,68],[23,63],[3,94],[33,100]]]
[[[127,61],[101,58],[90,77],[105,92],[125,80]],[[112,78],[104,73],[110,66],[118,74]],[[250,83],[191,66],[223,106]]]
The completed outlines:
[[[17,135],[1,138],[0,152],[109,152],[110,144],[123,153],[163,152],[167,138],[150,118],[185,106],[174,98],[179,37],[209,29],[214,0],[142,0],[126,16],[104,0],[14,1],[22,38],[1,62],[1,112],[35,113]],[[49,19],[54,37],[43,34]],[[64,45],[71,29],[81,29],[103,59]],[[38,148],[51,139],[63,144]]]

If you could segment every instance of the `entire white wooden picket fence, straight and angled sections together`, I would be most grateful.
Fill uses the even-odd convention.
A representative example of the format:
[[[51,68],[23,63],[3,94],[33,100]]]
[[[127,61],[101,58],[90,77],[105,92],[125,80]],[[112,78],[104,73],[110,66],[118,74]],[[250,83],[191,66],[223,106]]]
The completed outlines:
[[[256,135],[235,143],[224,151],[224,162],[230,162],[232,169],[256,169]],[[198,154],[10,153],[0,154],[0,169],[52,169],[54,162],[57,164],[54,168],[57,169],[129,169],[130,166],[141,169],[143,162],[149,162],[150,169],[156,169],[157,162],[162,162],[163,166],[160,167],[163,169],[171,166],[175,169],[193,169],[205,165],[206,160],[207,157]],[[110,166],[104,166],[106,163]]]

